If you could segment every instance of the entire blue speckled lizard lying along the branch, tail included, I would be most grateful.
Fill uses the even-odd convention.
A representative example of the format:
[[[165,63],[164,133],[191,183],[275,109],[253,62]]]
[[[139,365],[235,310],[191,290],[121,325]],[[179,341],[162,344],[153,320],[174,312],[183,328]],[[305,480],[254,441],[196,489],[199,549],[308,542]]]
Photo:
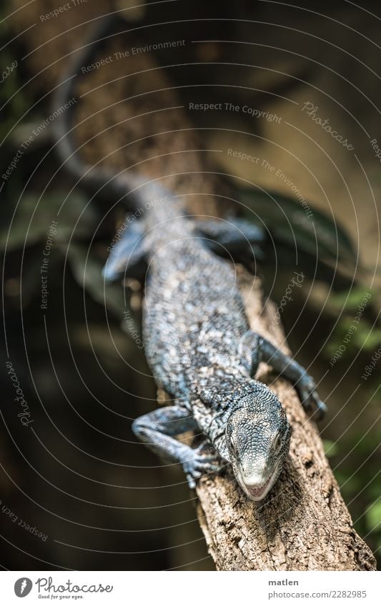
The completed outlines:
[[[70,86],[64,89],[68,98]],[[104,268],[108,280],[146,276],[144,350],[155,380],[173,398],[172,405],[135,420],[134,433],[180,463],[192,488],[202,473],[219,469],[221,458],[232,465],[244,493],[261,500],[287,458],[290,425],[277,396],[254,379],[259,362],[291,380],[306,408],[325,411],[305,369],[249,330],[234,266],[216,254],[251,248],[255,256],[262,232],[239,218],[199,221],[157,181],[129,173],[91,176],[75,156],[67,124],[57,128],[61,158],[71,158],[72,171],[118,194],[133,190],[135,206],[147,209],[129,223]],[[176,439],[187,430],[204,435],[204,443],[192,448]]]

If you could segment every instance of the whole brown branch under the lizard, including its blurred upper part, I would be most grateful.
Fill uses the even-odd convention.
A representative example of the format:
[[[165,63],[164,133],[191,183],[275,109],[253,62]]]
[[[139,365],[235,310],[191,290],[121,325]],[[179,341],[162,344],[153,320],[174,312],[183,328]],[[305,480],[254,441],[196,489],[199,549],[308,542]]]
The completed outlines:
[[[19,5],[19,0],[15,0],[15,4]],[[38,21],[39,14],[47,12],[49,6],[50,2],[39,0],[30,5],[27,12],[16,13],[16,26],[21,30],[29,21]],[[86,19],[81,10],[75,11],[78,23],[81,19],[90,19],[93,12],[97,14],[94,3],[86,5]],[[51,40],[46,46],[39,48],[40,29],[38,32],[31,29],[25,36],[26,45],[36,49],[28,61],[30,69],[44,70],[38,79],[40,86],[51,86],[51,81],[59,79],[66,64],[59,59],[67,49],[77,46],[77,40],[70,32],[54,37],[75,24],[75,21],[68,21],[72,16],[74,19],[74,11],[46,24],[46,41]],[[88,27],[84,26],[84,29]],[[82,28],[78,31],[83,35]],[[128,40],[131,45],[131,36]],[[120,44],[119,39],[111,41],[101,55],[112,54]],[[47,68],[49,64],[52,65]],[[81,150],[86,161],[104,158],[107,166],[119,169],[139,163],[139,168],[148,176],[167,176],[167,186],[177,194],[190,194],[192,211],[223,212],[227,201],[221,197],[222,185],[212,171],[206,172],[198,138],[186,113],[178,107],[174,91],[169,89],[147,97],[129,98],[137,91],[169,86],[163,71],[154,71],[149,79],[142,79],[139,71],[154,65],[152,57],[147,55],[112,65],[107,72],[99,70],[87,74],[79,85],[82,94],[94,91],[82,99],[77,111],[78,121],[84,121],[76,129],[77,141],[83,144],[91,140]],[[121,73],[136,75],[117,79]],[[110,84],[99,88],[105,82]],[[149,113],[152,108],[173,106],[177,109]],[[128,120],[139,115],[142,117]],[[106,128],[103,135],[92,140]],[[127,146],[126,141],[129,142]],[[134,170],[137,170],[136,166]],[[274,330],[269,330],[274,319],[274,305],[263,305],[259,280],[242,268],[238,268],[238,272],[252,328],[287,350],[282,329],[274,324]],[[271,383],[266,365],[260,366],[258,378]],[[217,569],[374,570],[375,559],[353,530],[315,424],[308,420],[289,383],[276,380],[271,386],[287,410],[292,440],[287,467],[267,499],[258,504],[247,500],[229,470],[224,476],[202,479],[197,487],[199,523]]]

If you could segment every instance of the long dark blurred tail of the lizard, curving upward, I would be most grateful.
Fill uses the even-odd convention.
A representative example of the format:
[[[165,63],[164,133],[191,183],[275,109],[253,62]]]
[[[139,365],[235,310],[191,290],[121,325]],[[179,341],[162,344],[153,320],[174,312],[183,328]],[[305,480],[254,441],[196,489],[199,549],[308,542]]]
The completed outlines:
[[[112,36],[117,20],[118,17],[115,15],[102,18],[100,24],[91,34],[89,41],[81,47],[74,64],[64,76],[54,96],[54,107],[66,109],[61,111],[59,117],[52,123],[52,129],[56,141],[56,151],[62,166],[78,178],[82,186],[89,187],[91,191],[99,192],[99,195],[104,198],[117,199],[118,201],[129,195],[128,206],[139,208],[142,202],[147,199],[142,192],[142,186],[147,183],[144,178],[131,173],[124,173],[123,176],[116,175],[104,168],[87,166],[81,160],[73,138],[76,126],[73,125],[72,108],[75,105],[73,102],[78,101],[75,96],[78,75],[83,74],[82,67],[91,64],[91,59],[93,59],[99,43]]]

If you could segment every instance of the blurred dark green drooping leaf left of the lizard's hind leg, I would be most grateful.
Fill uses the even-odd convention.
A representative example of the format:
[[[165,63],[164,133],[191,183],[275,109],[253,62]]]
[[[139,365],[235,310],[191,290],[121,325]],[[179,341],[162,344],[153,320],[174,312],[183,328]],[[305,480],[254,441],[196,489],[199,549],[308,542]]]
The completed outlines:
[[[102,276],[108,241],[104,241],[104,246],[100,245],[106,234],[102,229],[101,214],[96,208],[79,192],[65,194],[58,190],[41,197],[25,194],[17,200],[11,226],[0,228],[0,250],[6,250],[9,254],[29,247],[30,253],[26,256],[26,263],[29,263],[33,257],[32,251],[38,247],[37,262],[41,264],[41,251],[49,238],[49,226],[56,217],[56,233],[51,236],[53,245],[49,254],[49,269],[51,263],[62,264],[67,258],[79,287],[115,318],[122,319],[126,308],[129,309],[128,298],[123,296],[119,284],[105,283]],[[93,241],[94,233],[96,238]],[[31,288],[36,294],[39,283],[29,282],[28,276],[25,276],[22,286],[24,303],[30,303]]]

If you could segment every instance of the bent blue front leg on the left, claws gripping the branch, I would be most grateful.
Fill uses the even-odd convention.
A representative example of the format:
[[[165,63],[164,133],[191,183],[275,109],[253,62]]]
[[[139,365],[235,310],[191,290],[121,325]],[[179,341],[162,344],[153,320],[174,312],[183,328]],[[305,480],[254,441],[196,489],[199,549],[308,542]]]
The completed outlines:
[[[202,473],[212,473],[219,469],[218,465],[213,464],[216,455],[203,452],[204,443],[191,448],[172,438],[185,431],[199,431],[196,421],[186,408],[179,405],[158,408],[134,420],[132,430],[154,453],[174,463],[181,463],[189,488],[195,487],[195,480]]]

